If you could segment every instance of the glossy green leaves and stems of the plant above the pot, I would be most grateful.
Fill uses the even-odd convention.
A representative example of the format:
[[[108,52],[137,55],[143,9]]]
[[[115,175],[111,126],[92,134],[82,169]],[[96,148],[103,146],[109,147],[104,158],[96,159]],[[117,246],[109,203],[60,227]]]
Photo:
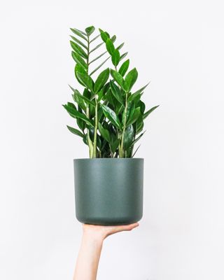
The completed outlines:
[[[132,91],[138,72],[136,68],[128,71],[130,59],[120,63],[127,52],[120,53],[124,43],[116,47],[116,36],[110,36],[102,29],[92,36],[95,31],[93,26],[85,31],[71,31],[74,34],[70,44],[71,56],[76,62],[75,77],[83,90],[80,93],[71,87],[74,103],[63,105],[69,115],[76,119],[79,129],[67,127],[83,139],[89,148],[90,158],[132,158],[137,152],[134,152],[134,144],[144,134],[144,120],[158,107],[146,111],[141,100],[148,84]],[[99,39],[101,42],[96,44]],[[93,57],[102,48],[102,53]],[[105,58],[102,60],[102,57]],[[96,75],[109,59],[113,69],[106,68],[94,80],[93,74]],[[97,62],[98,65],[93,67]]]

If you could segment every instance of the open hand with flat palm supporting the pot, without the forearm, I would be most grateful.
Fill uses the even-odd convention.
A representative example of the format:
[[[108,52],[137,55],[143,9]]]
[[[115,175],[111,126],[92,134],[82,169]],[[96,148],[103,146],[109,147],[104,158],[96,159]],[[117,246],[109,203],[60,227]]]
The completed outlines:
[[[137,228],[139,223],[130,225],[88,225],[83,224],[83,235],[91,236],[92,238],[101,239],[102,241],[109,235],[117,232],[130,231]]]

